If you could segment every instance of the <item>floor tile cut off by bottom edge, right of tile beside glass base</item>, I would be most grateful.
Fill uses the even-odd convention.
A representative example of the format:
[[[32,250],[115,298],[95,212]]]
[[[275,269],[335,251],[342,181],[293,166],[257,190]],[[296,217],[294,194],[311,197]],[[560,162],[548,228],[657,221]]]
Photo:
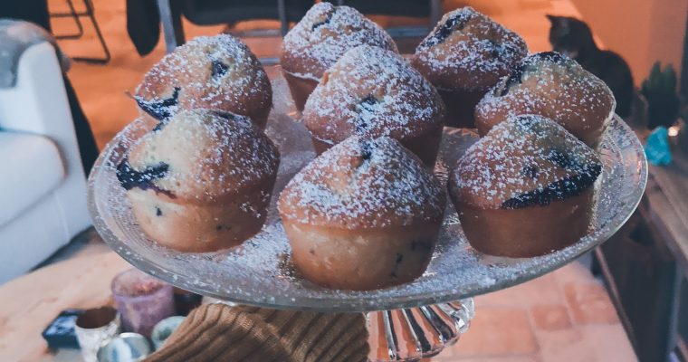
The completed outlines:
[[[536,335],[543,362],[603,362],[578,329],[538,330]]]

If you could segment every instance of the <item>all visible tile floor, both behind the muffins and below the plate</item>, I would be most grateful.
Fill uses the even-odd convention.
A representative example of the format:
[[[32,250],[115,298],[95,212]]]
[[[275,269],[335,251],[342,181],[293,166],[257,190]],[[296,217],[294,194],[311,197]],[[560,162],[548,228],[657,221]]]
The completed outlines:
[[[77,5],[79,2],[76,2]],[[63,0],[50,0],[53,12]],[[98,22],[112,52],[105,66],[75,63],[69,72],[100,147],[137,116],[126,91],[164,55],[162,44],[139,57],[126,32],[125,2],[95,0]],[[445,1],[445,7],[473,5],[521,33],[530,51],[549,50],[544,14],[578,14],[567,0]],[[409,19],[377,18],[383,24]],[[416,20],[416,23],[418,21]],[[269,24],[260,22],[259,26]],[[277,26],[277,24],[269,24]],[[53,22],[56,33],[69,32],[68,19]],[[239,28],[256,26],[239,24]],[[219,33],[224,25],[198,27],[185,23],[187,38]],[[97,54],[89,25],[79,41],[61,41],[72,56]],[[246,43],[259,56],[274,56],[279,38],[253,38]],[[476,298],[477,314],[469,332],[434,361],[449,362],[626,362],[635,355],[603,286],[575,262],[537,280]]]

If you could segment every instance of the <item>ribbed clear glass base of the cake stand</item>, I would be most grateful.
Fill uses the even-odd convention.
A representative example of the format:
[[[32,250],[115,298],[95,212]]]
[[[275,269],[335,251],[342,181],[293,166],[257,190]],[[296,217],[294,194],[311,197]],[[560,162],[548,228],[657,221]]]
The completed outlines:
[[[435,357],[468,330],[473,298],[403,310],[368,312],[370,361]]]

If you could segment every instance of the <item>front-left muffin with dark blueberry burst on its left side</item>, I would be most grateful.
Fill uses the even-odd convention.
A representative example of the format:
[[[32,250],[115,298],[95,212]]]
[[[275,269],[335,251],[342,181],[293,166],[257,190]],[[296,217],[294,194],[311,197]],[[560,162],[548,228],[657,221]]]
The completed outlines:
[[[280,155],[251,119],[180,110],[117,167],[141,229],[182,252],[213,252],[261,230]]]

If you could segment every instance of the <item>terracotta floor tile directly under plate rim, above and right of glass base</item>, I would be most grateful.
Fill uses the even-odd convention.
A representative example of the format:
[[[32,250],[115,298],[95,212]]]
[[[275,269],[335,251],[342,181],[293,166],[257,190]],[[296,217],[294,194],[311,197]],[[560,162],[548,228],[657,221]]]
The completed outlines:
[[[476,298],[476,305],[523,307],[541,304],[562,304],[564,296],[559,290],[557,280],[549,273],[532,281],[514,287],[494,291]]]

